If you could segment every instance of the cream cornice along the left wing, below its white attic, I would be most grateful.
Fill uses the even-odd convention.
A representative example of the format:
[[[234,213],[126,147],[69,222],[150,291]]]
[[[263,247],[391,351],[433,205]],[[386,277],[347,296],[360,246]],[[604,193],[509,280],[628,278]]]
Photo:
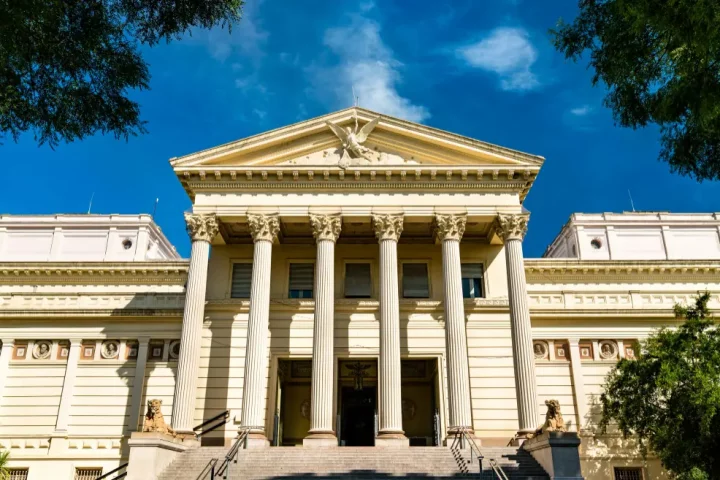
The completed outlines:
[[[184,285],[188,261],[172,262],[4,262],[0,284]]]

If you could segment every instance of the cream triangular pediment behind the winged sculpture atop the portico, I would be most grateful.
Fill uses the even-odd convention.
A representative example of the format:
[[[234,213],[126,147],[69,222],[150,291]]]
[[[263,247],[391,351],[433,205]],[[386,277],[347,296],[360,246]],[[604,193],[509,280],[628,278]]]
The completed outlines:
[[[348,154],[328,122],[357,131],[377,125],[362,143],[363,154]],[[378,114],[359,107],[254,135],[191,155],[171,159],[186,168],[343,167],[343,166],[495,166],[538,168],[544,159],[461,135]]]

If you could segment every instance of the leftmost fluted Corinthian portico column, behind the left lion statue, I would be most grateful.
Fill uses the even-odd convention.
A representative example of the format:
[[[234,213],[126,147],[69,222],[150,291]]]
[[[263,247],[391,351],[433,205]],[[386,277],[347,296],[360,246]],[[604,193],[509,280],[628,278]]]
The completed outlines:
[[[194,436],[195,398],[200,369],[202,325],[205,314],[205,288],[210,242],[217,235],[218,222],[214,214],[185,214],[187,232],[192,241],[190,269],[185,288],[180,358],[178,359],[172,425],[180,435]]]

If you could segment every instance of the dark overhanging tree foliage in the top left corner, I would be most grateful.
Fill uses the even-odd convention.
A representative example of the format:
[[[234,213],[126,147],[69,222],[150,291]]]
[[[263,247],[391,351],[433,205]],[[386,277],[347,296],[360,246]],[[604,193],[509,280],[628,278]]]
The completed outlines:
[[[145,132],[128,90],[147,89],[141,45],[230,29],[243,0],[0,0],[0,135],[40,144]]]

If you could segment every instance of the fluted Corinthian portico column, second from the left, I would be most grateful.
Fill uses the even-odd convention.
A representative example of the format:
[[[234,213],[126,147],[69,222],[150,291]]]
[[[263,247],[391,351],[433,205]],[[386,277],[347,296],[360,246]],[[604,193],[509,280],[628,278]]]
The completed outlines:
[[[240,425],[253,427],[248,447],[264,447],[269,445],[265,435],[265,388],[270,326],[270,270],[272,244],[280,230],[280,222],[277,215],[248,215],[248,227],[255,246]]]

